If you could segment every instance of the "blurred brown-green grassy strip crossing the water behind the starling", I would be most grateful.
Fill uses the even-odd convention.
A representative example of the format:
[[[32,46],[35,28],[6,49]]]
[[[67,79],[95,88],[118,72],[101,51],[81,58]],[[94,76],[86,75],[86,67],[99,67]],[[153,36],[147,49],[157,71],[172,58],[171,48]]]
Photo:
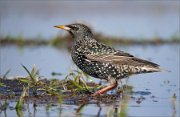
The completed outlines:
[[[105,44],[122,44],[122,45],[162,45],[162,44],[180,44],[179,37],[173,37],[172,39],[162,39],[162,38],[153,38],[153,39],[132,39],[132,38],[120,38],[120,37],[108,37],[103,36],[102,34],[95,34],[95,37],[98,41],[101,41]],[[73,39],[69,35],[53,37],[51,39],[45,40],[41,37],[37,37],[34,39],[24,38],[21,36],[17,37],[0,37],[1,45],[19,45],[19,46],[27,46],[27,45],[54,45],[61,47],[70,47],[73,43]]]

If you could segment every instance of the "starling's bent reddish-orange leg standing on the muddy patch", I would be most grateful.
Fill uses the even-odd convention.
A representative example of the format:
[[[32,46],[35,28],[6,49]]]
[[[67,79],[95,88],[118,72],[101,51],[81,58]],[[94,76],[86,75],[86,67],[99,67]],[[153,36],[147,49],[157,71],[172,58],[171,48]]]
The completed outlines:
[[[92,94],[92,96],[103,94],[103,93],[105,93],[105,92],[107,92],[109,90],[112,90],[112,89],[117,87],[118,83],[117,83],[117,81],[114,78],[108,78],[108,81],[110,82],[110,86],[107,86],[107,87],[105,87],[105,88],[95,92],[94,94]]]

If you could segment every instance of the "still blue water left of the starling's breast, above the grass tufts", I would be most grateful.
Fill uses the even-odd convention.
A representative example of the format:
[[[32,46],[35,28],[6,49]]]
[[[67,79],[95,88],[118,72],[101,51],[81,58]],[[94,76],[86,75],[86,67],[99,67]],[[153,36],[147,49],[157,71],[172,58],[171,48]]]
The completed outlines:
[[[71,67],[71,57],[67,50],[58,50],[51,46],[25,47],[16,46],[1,47],[1,74],[11,70],[9,76],[27,75],[21,64],[29,70],[35,64],[40,70],[40,76],[52,77],[52,72],[67,74]]]

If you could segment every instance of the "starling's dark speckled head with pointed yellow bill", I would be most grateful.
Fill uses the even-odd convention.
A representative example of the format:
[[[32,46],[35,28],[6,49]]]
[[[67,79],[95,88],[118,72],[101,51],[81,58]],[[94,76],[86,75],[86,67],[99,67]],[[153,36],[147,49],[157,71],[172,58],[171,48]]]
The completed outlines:
[[[54,27],[67,30],[74,37],[83,36],[83,35],[92,36],[90,28],[84,24],[76,23],[76,24],[69,24],[69,25],[58,25]]]

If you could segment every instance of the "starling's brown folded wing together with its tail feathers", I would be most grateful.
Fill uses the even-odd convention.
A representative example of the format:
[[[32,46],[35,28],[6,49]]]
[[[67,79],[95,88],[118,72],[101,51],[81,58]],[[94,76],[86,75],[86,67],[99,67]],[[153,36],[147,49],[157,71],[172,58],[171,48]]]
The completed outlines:
[[[102,63],[111,63],[114,65],[128,65],[132,67],[138,67],[144,72],[158,72],[161,71],[159,65],[147,60],[136,58],[129,55],[114,55],[114,54],[88,54],[85,55],[90,61],[98,61]]]

